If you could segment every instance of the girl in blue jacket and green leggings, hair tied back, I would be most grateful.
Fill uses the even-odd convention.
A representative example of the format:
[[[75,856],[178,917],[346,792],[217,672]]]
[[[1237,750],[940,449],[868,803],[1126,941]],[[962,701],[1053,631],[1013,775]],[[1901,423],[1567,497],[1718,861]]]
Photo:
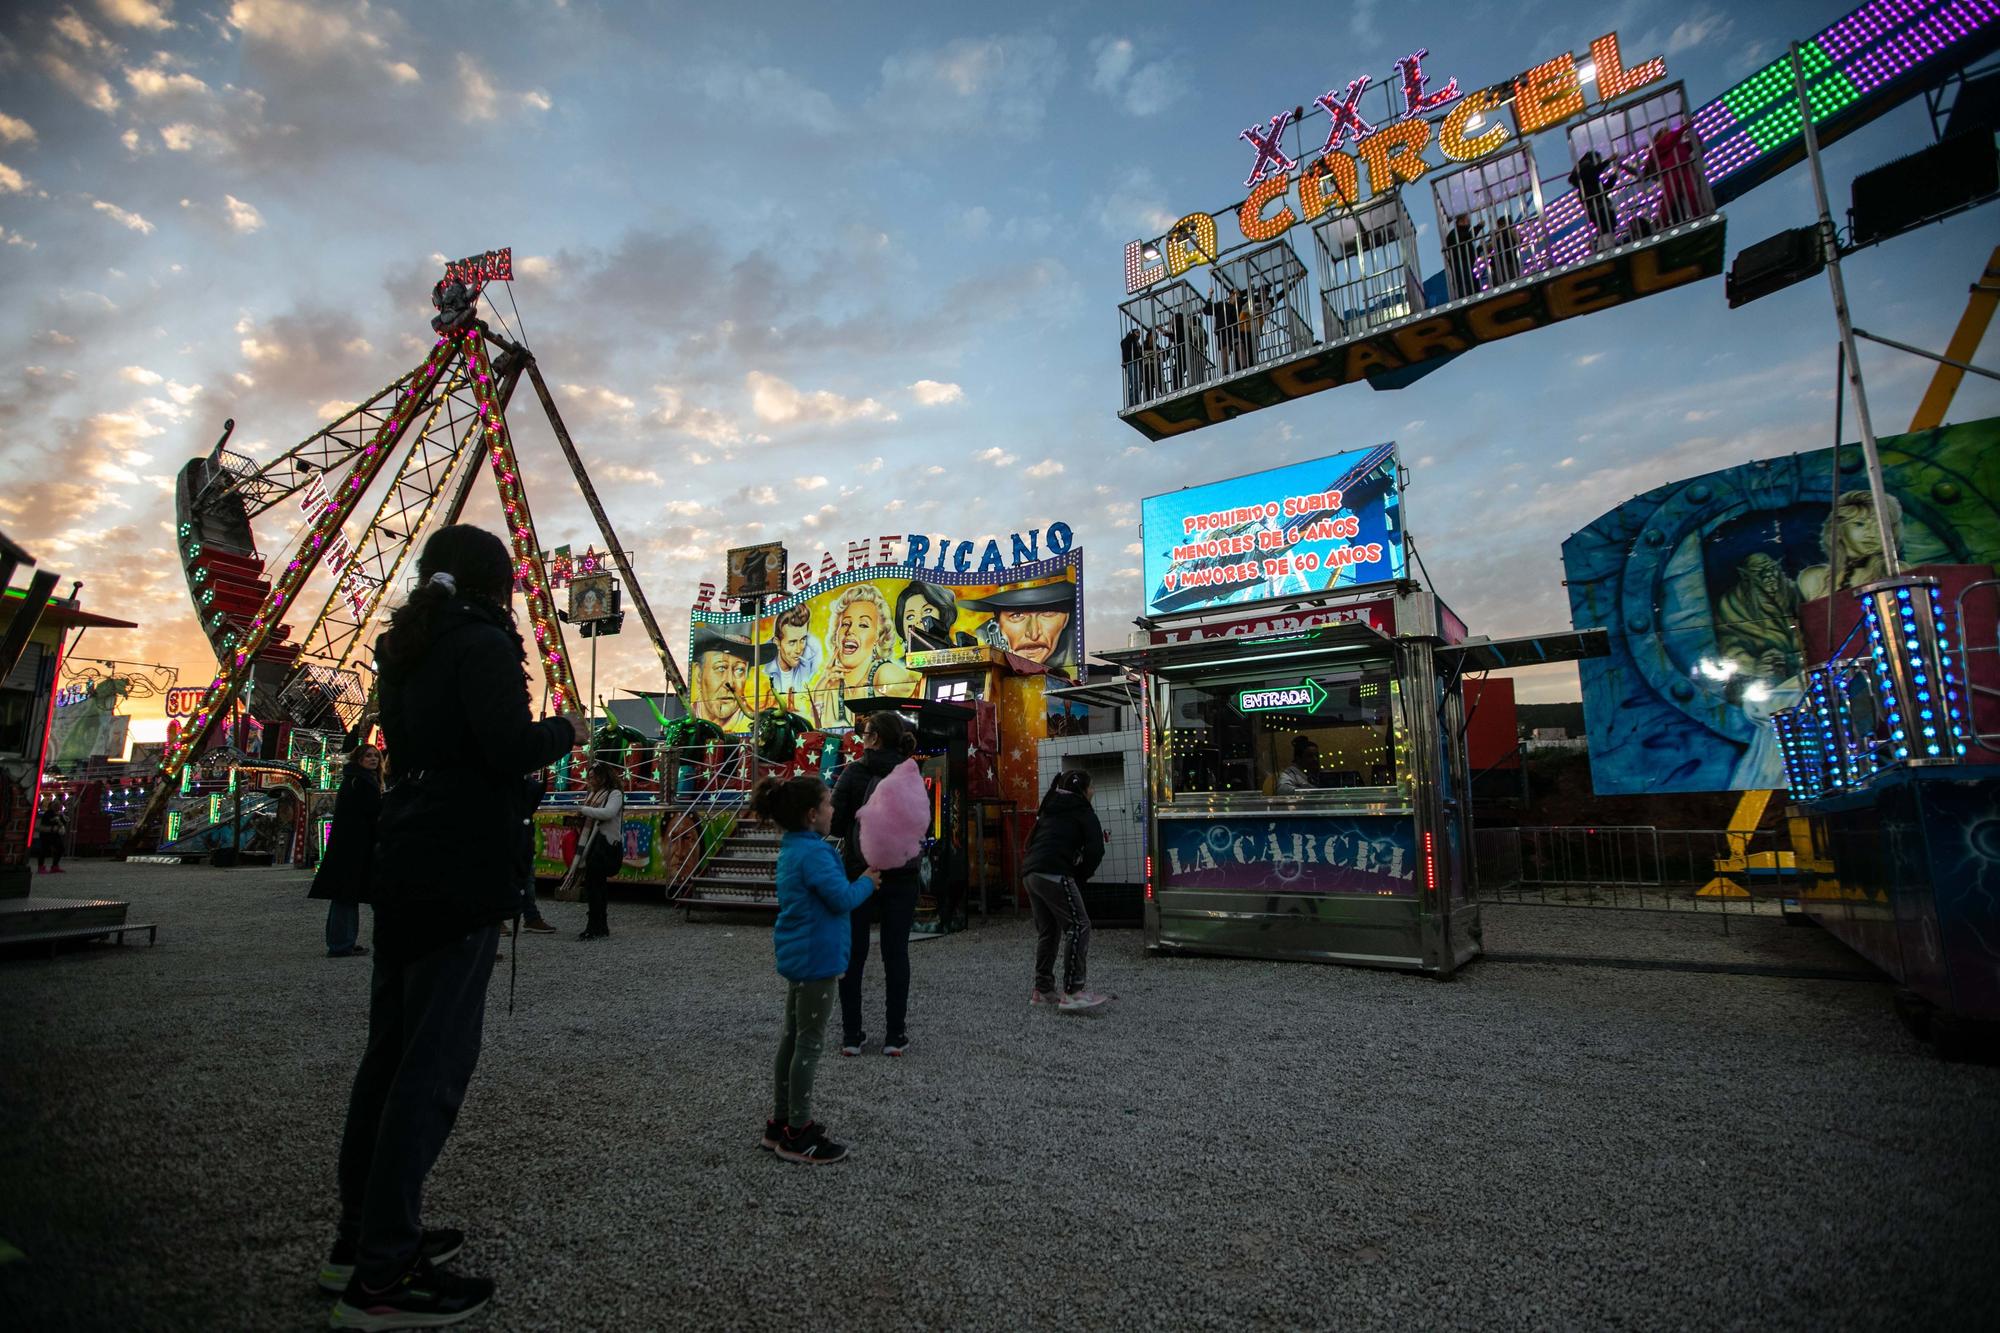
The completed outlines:
[[[848,913],[880,881],[868,871],[848,881],[840,853],[826,843],[834,795],[816,777],[766,777],[750,793],[750,811],[784,829],[778,847],[778,925],[772,949],[786,979],[784,1039],[778,1043],[774,1113],[764,1121],[764,1147],[786,1161],[824,1165],[848,1155],[812,1119],[812,1077],[826,1047],[842,973],[848,971]]]

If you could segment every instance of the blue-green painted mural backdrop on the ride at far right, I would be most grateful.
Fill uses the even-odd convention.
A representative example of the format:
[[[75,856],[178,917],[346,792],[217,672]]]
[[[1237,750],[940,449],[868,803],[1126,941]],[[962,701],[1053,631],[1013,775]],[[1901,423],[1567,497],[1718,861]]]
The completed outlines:
[[[2000,418],[1880,440],[1906,564],[2000,562]],[[1800,604],[1882,576],[1858,444],[1626,500],[1562,544],[1596,791],[1784,787],[1770,715],[1800,697]]]

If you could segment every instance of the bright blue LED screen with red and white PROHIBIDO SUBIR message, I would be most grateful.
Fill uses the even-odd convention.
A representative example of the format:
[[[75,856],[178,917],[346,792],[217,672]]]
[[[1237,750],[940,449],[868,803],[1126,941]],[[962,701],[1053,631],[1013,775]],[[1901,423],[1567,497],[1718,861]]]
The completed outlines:
[[[1396,446],[1156,494],[1140,528],[1148,616],[1390,582],[1404,568]]]

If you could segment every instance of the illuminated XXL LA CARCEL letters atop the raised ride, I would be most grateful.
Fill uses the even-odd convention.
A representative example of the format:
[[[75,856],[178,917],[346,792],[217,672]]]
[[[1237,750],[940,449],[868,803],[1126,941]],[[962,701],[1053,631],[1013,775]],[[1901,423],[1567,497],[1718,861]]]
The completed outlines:
[[[1456,78],[1426,92],[1432,78],[1422,62],[1428,54],[1416,50],[1396,62],[1400,110],[1394,120],[1372,122],[1362,114],[1362,94],[1372,82],[1368,74],[1348,80],[1346,88],[1330,88],[1312,98],[1316,108],[1326,110],[1328,128],[1326,140],[1304,168],[1300,158],[1284,150],[1288,128],[1296,142],[1300,108],[1282,110],[1266,124],[1238,134],[1254,154],[1250,176],[1244,180],[1250,196],[1236,206],[1236,228],[1244,240],[1276,240],[1330,208],[1354,208],[1416,182],[1432,166],[1424,158],[1432,144],[1448,162],[1478,162],[1500,152],[1516,136],[1528,138],[1582,116],[1594,102],[1610,102],[1666,78],[1666,60],[1658,56],[1626,68],[1616,32],[1594,40],[1584,64],[1578,64],[1572,52],[1562,52],[1526,74],[1474,92],[1460,92]],[[1596,98],[1584,96],[1586,82],[1596,84]],[[1432,114],[1446,106],[1452,110],[1436,116],[1434,130]],[[1512,132],[1490,120],[1490,114],[1498,114],[1504,106],[1512,108]],[[1350,138],[1352,150],[1348,150]],[[1178,278],[1196,264],[1214,264],[1216,216],[1190,212],[1166,230],[1164,242],[1164,254],[1144,240],[1126,244],[1126,292]]]

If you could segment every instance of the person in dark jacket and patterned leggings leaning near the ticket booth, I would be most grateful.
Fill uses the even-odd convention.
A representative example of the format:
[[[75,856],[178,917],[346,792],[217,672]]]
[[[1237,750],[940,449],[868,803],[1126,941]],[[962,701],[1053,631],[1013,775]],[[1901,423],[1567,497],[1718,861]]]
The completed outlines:
[[[1034,991],[1030,1005],[1058,1005],[1066,1011],[1096,1009],[1108,995],[1084,989],[1090,955],[1090,913],[1082,885],[1104,861],[1104,825],[1090,809],[1090,775],[1082,769],[1058,773],[1042,797],[1028,835],[1028,855],[1020,873],[1034,909]],[[1056,991],[1056,945],[1062,943],[1062,991]]]

